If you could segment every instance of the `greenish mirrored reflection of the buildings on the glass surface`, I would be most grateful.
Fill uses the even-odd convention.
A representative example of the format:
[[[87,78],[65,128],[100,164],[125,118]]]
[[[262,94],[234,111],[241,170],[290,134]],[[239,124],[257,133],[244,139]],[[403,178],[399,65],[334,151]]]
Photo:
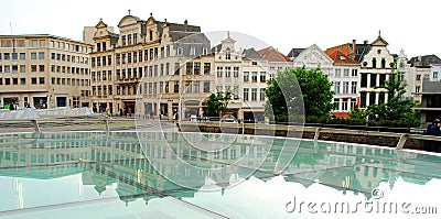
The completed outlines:
[[[49,179],[82,173],[83,185],[95,185],[98,194],[117,183],[117,193],[125,201],[191,197],[207,182],[225,188],[232,178],[251,174],[272,177],[281,145],[283,142],[271,138],[225,134],[22,134],[0,142],[0,175]],[[286,173],[301,173],[289,175],[287,180],[306,187],[319,179],[343,190],[369,191],[385,180],[392,187],[399,176],[410,183],[429,180],[411,174],[418,171],[416,163],[398,162],[389,149],[320,142],[315,152],[311,141],[302,141],[294,152]]]

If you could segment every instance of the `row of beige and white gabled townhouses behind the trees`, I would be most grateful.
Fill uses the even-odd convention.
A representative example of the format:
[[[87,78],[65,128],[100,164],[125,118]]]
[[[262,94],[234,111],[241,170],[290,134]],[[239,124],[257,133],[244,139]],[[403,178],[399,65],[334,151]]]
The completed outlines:
[[[111,114],[163,114],[191,119],[204,114],[206,98],[233,91],[232,113],[263,121],[266,81],[288,67],[320,67],[333,83],[334,114],[388,101],[392,70],[407,86],[406,98],[421,100],[422,81],[439,81],[435,55],[408,59],[391,54],[378,37],[325,51],[313,44],[284,56],[272,47],[237,48],[229,33],[215,46],[200,26],[128,14],[118,32],[100,20],[84,29],[83,42],[65,37],[0,35],[0,103],[35,108],[90,107]],[[180,109],[182,111],[180,111]],[[432,117],[428,117],[430,120]]]

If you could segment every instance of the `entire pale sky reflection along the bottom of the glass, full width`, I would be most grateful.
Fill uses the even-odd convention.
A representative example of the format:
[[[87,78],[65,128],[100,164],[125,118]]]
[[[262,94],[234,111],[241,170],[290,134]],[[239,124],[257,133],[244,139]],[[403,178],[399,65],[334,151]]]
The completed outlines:
[[[366,197],[361,193],[354,194],[347,190],[344,194],[342,190],[320,183],[314,183],[306,188],[299,183],[286,182],[282,176],[276,176],[266,182],[250,177],[241,184],[225,188],[224,191],[215,189],[218,187],[215,185],[216,182],[208,178],[205,180],[204,188],[196,191],[194,197],[183,198],[184,202],[168,197],[153,198],[148,204],[143,199],[138,199],[126,206],[118,198],[116,184],[107,186],[107,190],[98,195],[94,189],[95,186],[82,185],[82,175],[77,174],[51,180],[0,177],[2,196],[0,199],[0,217],[4,216],[1,211],[18,208],[19,198],[15,182],[22,186],[24,208],[55,205],[44,210],[36,208],[31,211],[32,213],[21,215],[23,218],[41,218],[43,216],[44,218],[56,218],[61,215],[63,218],[76,218],[79,213],[85,213],[85,218],[116,218],[117,216],[122,218],[136,218],[139,216],[211,218],[212,216],[207,216],[204,209],[230,218],[342,218],[341,213],[310,213],[305,205],[302,207],[302,212],[299,212],[299,205],[301,201],[305,204],[316,202],[318,205],[322,202],[334,205],[338,201],[346,201],[352,208],[358,201],[366,201]],[[212,189],[206,189],[206,187]],[[438,210],[441,210],[441,200],[435,196],[441,194],[440,179],[431,179],[426,185],[418,185],[408,183],[399,177],[392,189],[390,189],[388,183],[380,183],[377,188],[384,193],[384,197],[378,200],[374,198],[369,200],[380,204],[395,201],[398,205],[406,201],[412,206],[438,207]],[[293,201],[294,197],[297,208],[293,212],[288,213],[287,204]],[[86,201],[94,199],[98,201]],[[67,205],[77,201],[79,201],[78,205]],[[80,201],[86,202],[82,204]],[[292,209],[292,206],[289,208]],[[320,210],[320,208],[316,209]],[[344,218],[370,217],[369,213],[363,211],[363,208],[359,209],[356,213],[344,215]],[[373,216],[376,218],[409,218],[409,215],[400,211],[397,215],[374,213]],[[13,218],[20,218],[20,216],[14,215]],[[412,218],[437,217],[415,217],[412,215]]]

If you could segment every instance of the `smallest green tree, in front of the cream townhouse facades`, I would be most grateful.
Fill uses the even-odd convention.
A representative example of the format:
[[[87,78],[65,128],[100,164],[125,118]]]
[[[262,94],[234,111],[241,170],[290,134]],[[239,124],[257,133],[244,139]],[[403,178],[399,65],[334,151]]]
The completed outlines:
[[[227,111],[228,103],[232,100],[232,91],[225,92],[217,91],[216,94],[209,95],[206,103],[207,108],[205,111],[206,117],[219,117],[223,111]]]

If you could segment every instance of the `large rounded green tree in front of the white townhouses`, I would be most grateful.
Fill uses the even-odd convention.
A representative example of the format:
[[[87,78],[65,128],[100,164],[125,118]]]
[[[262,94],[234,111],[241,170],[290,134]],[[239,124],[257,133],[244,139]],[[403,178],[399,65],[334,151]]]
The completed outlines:
[[[327,77],[316,68],[289,68],[268,80],[266,114],[275,121],[299,121],[299,116],[329,116],[333,91]],[[272,117],[272,118],[271,118]]]

